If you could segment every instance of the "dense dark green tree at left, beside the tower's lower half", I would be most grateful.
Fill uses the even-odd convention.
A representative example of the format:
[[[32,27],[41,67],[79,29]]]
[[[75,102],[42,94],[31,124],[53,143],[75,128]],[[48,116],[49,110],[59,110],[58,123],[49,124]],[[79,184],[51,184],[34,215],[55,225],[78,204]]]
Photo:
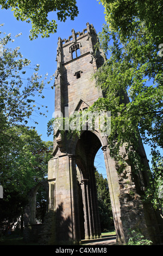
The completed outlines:
[[[9,147],[0,155],[0,180],[4,191],[0,202],[2,229],[23,215],[27,194],[47,179],[47,163],[52,157],[53,142],[43,142],[34,129],[15,126],[13,130]]]

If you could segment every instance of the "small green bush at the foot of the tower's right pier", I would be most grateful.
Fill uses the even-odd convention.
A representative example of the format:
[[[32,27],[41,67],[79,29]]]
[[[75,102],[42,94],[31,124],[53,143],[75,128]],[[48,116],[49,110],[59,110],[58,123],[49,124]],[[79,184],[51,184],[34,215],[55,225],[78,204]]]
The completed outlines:
[[[133,230],[130,233],[127,245],[152,245],[152,241],[145,239],[140,232]]]

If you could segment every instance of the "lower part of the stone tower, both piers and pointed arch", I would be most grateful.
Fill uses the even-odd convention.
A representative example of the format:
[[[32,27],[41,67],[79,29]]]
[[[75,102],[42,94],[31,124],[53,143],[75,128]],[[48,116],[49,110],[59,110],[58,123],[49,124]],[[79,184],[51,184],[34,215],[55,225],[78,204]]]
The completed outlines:
[[[83,238],[83,230],[86,239],[101,235],[93,163],[102,147],[117,242],[127,242],[128,231],[139,229],[146,239],[156,243],[158,221],[151,205],[143,203],[140,194],[146,173],[133,174],[127,156],[126,167],[119,173],[116,161],[110,157],[107,139],[98,131],[83,131],[80,138],[72,137],[67,142],[62,144],[62,151],[59,147],[55,151],[48,169],[49,185],[55,182],[57,239],[78,242]],[[126,154],[124,147],[120,151]]]

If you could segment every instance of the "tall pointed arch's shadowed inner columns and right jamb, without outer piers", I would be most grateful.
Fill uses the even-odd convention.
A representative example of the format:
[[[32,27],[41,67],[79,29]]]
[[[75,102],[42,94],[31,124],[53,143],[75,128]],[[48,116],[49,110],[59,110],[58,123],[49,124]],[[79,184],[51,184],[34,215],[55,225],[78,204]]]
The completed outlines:
[[[77,176],[83,198],[85,239],[101,236],[94,173],[95,156],[101,147],[104,153],[117,240],[124,242],[124,233],[120,216],[120,203],[118,199],[120,191],[115,162],[108,158],[109,154],[107,152],[106,138],[102,137],[98,131],[84,131],[76,143],[75,150],[76,164],[79,170]],[[112,169],[112,173],[110,174],[111,167],[114,167],[114,169]]]

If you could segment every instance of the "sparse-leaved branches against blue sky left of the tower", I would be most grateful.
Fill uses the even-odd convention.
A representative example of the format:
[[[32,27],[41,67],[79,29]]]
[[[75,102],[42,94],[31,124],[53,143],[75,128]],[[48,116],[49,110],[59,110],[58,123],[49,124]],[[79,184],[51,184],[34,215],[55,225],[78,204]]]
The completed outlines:
[[[3,34],[5,33],[0,32],[0,45],[3,45],[3,54],[0,58],[0,131],[2,136],[12,125],[26,125],[33,112],[45,115],[41,112],[40,106],[36,106],[35,96],[44,97],[42,91],[47,79],[47,75],[45,80],[38,75],[38,64],[33,69],[30,60],[22,58],[19,47],[15,49],[7,47],[13,39],[11,34],[5,36]],[[29,69],[34,70],[30,77],[26,75]]]

